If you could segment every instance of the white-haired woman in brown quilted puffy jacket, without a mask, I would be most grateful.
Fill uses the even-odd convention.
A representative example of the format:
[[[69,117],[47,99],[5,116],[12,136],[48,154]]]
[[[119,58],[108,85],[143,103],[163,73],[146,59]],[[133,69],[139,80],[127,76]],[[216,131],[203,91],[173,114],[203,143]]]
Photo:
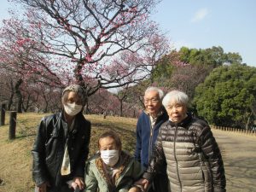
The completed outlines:
[[[154,173],[167,164],[169,191],[225,191],[224,164],[212,131],[187,113],[189,97],[172,90],[163,99],[169,120],[160,127],[153,157],[138,183],[148,187]]]

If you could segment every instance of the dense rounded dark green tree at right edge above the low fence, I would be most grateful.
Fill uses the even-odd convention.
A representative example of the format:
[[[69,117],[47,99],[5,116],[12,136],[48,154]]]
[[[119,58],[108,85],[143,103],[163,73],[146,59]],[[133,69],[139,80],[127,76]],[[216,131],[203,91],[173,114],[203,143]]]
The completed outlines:
[[[195,89],[197,112],[213,125],[247,127],[255,101],[256,68],[246,65],[215,68]]]

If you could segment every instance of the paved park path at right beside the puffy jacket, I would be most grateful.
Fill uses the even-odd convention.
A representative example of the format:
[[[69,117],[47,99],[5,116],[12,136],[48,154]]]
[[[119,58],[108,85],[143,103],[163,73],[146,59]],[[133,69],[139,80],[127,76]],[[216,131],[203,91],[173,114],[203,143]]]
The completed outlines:
[[[227,192],[256,192],[256,137],[212,130],[222,152]]]

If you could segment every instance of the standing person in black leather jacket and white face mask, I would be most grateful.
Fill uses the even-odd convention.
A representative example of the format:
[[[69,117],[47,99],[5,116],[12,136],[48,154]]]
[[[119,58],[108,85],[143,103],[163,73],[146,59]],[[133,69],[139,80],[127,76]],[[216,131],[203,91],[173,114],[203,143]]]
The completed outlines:
[[[78,84],[67,86],[61,102],[61,113],[41,120],[32,149],[32,177],[39,192],[84,189],[84,163],[90,143],[90,122],[82,113],[84,89]]]

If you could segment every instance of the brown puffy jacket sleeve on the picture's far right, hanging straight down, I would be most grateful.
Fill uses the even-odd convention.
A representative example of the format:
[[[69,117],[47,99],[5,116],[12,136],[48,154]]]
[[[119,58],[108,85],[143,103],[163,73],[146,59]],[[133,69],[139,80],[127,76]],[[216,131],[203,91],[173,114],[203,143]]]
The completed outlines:
[[[206,125],[200,133],[199,145],[201,146],[201,150],[211,166],[214,192],[226,191],[224,163],[218,148],[218,143],[216,143],[216,140],[213,137],[212,131],[208,125]]]

